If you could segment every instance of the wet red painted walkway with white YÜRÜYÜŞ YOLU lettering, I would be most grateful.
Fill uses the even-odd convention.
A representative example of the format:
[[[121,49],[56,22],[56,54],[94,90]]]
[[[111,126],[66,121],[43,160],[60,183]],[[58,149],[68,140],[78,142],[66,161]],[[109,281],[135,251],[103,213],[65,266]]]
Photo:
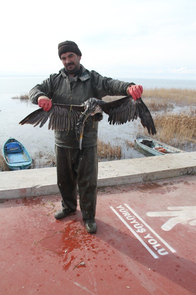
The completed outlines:
[[[0,203],[0,294],[195,294],[196,176],[99,190],[98,231],[60,196]],[[83,262],[84,265],[80,265]]]

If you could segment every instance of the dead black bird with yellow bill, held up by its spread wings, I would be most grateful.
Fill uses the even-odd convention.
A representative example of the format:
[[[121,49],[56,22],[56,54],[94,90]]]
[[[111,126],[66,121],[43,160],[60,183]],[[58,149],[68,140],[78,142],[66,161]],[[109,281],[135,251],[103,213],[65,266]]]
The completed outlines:
[[[37,109],[21,120],[19,124],[32,124],[34,127],[40,124],[39,127],[42,127],[49,118],[48,129],[64,131],[75,128],[81,149],[85,122],[90,116],[94,122],[101,121],[103,112],[109,116],[110,125],[124,124],[127,121],[137,120],[139,117],[142,126],[147,127],[149,134],[155,135],[157,133],[147,106],[141,98],[134,100],[131,95],[111,102],[90,98],[81,106],[52,104],[48,112],[42,108]]]

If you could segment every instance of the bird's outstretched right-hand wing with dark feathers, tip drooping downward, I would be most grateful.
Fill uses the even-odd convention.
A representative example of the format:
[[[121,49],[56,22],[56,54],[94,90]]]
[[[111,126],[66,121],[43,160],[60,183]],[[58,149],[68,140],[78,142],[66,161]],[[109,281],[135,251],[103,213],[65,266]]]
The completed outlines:
[[[141,98],[136,101],[131,95],[111,101],[102,105],[102,110],[109,115],[109,124],[124,124],[127,121],[137,120],[139,117],[143,127],[147,127],[148,133],[156,134],[155,124],[149,109]]]

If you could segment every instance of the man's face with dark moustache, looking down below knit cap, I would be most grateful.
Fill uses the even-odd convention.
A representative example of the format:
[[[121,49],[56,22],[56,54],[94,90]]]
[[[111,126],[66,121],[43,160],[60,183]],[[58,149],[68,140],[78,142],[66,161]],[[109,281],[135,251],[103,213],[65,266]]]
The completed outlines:
[[[61,55],[62,63],[69,74],[75,73],[80,68],[81,56],[73,52],[66,52]]]

